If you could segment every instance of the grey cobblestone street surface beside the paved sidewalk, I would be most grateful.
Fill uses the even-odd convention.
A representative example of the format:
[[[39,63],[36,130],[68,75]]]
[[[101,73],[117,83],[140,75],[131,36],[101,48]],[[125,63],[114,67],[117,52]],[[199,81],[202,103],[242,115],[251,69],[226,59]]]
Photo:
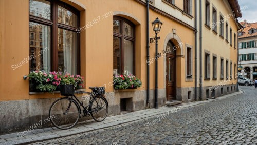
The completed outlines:
[[[245,93],[166,116],[34,144],[257,144],[257,89],[241,89]]]

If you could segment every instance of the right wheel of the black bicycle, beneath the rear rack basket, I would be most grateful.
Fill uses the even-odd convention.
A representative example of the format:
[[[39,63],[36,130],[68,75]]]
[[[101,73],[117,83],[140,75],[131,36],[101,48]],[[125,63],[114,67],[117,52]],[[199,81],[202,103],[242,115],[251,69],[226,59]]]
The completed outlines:
[[[96,96],[90,102],[89,112],[97,122],[103,121],[108,114],[108,102],[102,96]]]

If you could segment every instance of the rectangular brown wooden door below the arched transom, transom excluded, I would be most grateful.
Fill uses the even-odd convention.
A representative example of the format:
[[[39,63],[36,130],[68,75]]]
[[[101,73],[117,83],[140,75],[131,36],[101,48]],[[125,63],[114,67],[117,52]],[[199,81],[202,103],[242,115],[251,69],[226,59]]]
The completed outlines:
[[[176,100],[176,58],[174,55],[166,57],[166,98],[167,101]]]

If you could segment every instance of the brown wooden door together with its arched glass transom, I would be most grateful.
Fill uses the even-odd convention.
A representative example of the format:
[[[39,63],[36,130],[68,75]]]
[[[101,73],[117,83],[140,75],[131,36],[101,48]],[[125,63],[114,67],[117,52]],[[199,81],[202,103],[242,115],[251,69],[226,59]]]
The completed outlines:
[[[169,40],[166,47],[166,99],[176,100],[176,49]]]

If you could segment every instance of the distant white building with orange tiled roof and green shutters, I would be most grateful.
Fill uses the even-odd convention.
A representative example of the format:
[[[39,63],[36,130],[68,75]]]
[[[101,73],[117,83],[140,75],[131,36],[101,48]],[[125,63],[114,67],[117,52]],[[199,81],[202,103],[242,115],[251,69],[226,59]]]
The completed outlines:
[[[257,23],[240,23],[244,29],[239,33],[239,68],[242,76],[257,79]]]

